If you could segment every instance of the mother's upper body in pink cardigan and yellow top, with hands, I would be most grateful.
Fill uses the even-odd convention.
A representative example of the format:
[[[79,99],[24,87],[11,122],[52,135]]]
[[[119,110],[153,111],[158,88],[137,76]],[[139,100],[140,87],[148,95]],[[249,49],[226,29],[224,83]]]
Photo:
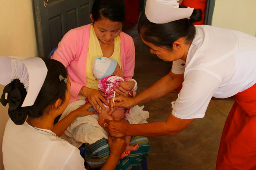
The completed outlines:
[[[112,8],[106,8],[109,4],[112,4]],[[118,64],[121,64],[125,80],[132,78],[135,47],[132,37],[121,32],[124,19],[123,0],[95,0],[91,13],[93,23],[71,29],[60,41],[52,58],[67,68],[71,81],[69,103],[88,98],[94,109],[99,112],[100,107],[105,110],[102,102],[108,105],[92,74],[91,67],[95,58],[105,56],[117,60]],[[122,88],[117,92],[121,95],[127,94]]]

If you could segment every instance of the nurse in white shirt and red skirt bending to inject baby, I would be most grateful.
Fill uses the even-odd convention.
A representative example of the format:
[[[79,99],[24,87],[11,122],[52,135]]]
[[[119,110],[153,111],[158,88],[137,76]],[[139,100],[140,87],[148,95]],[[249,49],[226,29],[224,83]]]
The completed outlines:
[[[197,25],[199,9],[179,8],[177,0],[147,0],[140,37],[151,53],[173,62],[170,73],[135,98],[117,96],[114,107],[129,108],[160,98],[182,84],[165,122],[124,124],[106,120],[106,130],[125,135],[174,135],[203,118],[212,98],[234,96],[223,129],[216,169],[256,168],[256,37],[230,29]],[[110,101],[110,104],[112,101]]]

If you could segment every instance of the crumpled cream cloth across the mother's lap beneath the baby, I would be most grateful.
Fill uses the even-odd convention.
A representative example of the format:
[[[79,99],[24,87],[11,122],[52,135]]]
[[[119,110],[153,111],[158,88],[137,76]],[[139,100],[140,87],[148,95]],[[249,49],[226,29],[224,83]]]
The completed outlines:
[[[63,119],[71,111],[83,106],[85,100],[77,100],[68,105],[66,110],[61,115]],[[130,110],[130,114],[127,116],[127,120],[130,124],[147,123],[146,119],[149,117],[149,112],[142,110],[144,106],[134,106]],[[108,134],[98,123],[98,114],[80,116],[76,118],[67,128],[61,138],[67,140],[69,143],[76,147],[80,147],[82,143],[93,144],[99,139],[108,139]]]

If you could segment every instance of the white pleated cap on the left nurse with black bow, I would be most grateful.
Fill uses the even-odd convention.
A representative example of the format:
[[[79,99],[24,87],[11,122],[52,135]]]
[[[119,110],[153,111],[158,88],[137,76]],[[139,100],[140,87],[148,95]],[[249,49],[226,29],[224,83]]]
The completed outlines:
[[[32,106],[44,84],[48,70],[41,58],[17,58],[0,56],[0,84],[6,86],[12,80],[19,79],[27,91],[21,107]],[[3,95],[7,100],[8,93],[5,92]]]

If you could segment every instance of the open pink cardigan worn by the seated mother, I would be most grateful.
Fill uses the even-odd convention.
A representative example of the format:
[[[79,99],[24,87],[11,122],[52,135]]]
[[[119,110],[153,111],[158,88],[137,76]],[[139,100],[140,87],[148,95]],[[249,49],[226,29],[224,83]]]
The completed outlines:
[[[86,86],[86,60],[89,46],[91,24],[68,31],[60,41],[52,59],[61,62],[68,71],[71,82],[71,99],[69,103],[78,100],[79,92]],[[131,36],[124,32],[121,38],[121,62],[125,80],[131,79],[135,66],[135,47]]]

